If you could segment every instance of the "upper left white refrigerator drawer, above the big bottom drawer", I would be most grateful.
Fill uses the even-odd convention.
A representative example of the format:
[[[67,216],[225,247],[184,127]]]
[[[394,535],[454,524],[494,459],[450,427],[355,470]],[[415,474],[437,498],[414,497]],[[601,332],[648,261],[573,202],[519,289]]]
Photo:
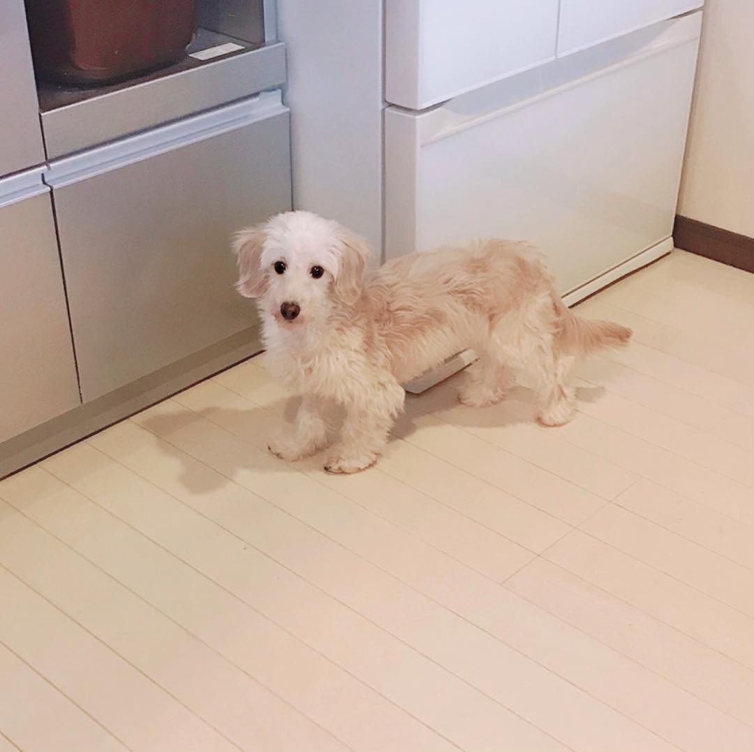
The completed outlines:
[[[386,0],[385,98],[423,109],[555,56],[558,0]]]

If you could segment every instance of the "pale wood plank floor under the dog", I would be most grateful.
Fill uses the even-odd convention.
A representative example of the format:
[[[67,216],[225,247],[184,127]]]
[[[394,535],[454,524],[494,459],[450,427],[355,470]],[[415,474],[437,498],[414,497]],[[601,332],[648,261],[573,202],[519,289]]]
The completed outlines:
[[[0,483],[0,750],[752,752],[754,275],[676,252],[580,413],[265,451],[250,361]]]

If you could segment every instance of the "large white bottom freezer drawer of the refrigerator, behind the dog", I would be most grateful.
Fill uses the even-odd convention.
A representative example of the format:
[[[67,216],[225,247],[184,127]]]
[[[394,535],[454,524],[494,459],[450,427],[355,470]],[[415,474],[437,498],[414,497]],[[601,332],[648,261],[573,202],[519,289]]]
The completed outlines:
[[[386,257],[523,239],[566,292],[669,238],[700,15],[430,112],[388,108]]]

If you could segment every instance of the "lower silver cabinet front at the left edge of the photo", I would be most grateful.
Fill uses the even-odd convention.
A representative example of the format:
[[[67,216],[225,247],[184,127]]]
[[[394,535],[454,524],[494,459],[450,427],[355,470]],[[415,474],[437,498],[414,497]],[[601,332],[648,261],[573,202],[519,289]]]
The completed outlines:
[[[0,199],[0,238],[2,443],[79,397],[48,192],[5,206]]]

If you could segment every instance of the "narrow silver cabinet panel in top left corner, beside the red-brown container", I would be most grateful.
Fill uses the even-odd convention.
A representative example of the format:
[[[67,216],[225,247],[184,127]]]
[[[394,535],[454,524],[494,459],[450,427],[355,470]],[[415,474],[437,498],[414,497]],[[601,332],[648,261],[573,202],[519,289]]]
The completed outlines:
[[[23,0],[0,2],[0,176],[44,161]]]

